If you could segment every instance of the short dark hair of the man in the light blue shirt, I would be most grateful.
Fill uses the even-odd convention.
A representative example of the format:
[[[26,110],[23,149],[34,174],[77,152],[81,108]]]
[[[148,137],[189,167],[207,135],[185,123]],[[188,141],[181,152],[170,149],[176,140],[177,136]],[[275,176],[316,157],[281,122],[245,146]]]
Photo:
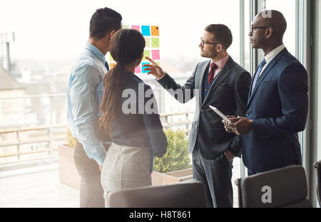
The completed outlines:
[[[97,9],[91,16],[89,25],[89,36],[95,39],[105,37],[112,30],[121,29],[121,14],[113,9],[103,8]]]

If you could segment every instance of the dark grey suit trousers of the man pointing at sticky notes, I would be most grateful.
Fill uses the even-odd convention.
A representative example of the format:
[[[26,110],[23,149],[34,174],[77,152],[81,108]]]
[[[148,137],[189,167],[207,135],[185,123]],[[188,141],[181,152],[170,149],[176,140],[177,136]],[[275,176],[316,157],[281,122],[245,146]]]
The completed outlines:
[[[220,154],[216,159],[204,159],[197,145],[192,159],[193,177],[205,185],[208,207],[232,208],[232,162],[228,162],[224,154]]]

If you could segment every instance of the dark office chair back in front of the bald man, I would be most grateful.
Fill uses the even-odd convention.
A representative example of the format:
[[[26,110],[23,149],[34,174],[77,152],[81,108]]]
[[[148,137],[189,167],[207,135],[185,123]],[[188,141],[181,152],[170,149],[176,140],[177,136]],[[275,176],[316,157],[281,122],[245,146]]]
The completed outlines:
[[[240,208],[311,208],[302,166],[287,166],[236,181]]]

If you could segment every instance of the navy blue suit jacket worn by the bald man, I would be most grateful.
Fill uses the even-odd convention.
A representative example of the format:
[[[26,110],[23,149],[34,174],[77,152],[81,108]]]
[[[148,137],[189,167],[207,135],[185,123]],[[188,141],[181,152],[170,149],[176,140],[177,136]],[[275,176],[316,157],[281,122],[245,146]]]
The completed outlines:
[[[302,164],[297,132],[307,121],[307,91],[307,71],[283,49],[249,94],[246,117],[253,120],[253,130],[243,136],[242,145],[248,169],[263,172]]]

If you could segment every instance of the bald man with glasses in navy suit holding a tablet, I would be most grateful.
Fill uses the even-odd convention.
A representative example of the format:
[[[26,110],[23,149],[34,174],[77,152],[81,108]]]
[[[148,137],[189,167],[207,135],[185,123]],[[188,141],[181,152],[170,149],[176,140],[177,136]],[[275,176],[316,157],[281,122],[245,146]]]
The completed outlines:
[[[232,124],[223,121],[228,132],[243,135],[249,176],[302,164],[297,132],[307,121],[307,71],[283,44],[286,28],[279,11],[255,16],[248,35],[253,48],[263,49],[265,57],[251,83],[246,117],[229,117]]]

